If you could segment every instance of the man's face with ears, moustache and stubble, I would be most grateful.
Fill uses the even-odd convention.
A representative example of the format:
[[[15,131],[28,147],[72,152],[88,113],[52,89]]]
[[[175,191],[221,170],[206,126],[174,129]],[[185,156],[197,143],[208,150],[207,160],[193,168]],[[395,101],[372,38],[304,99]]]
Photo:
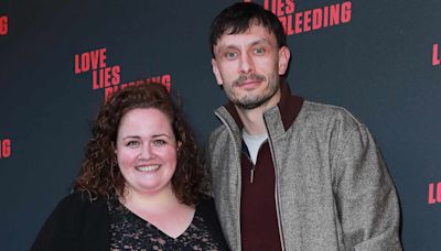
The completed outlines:
[[[213,73],[233,103],[241,109],[277,105],[279,75],[287,70],[290,52],[278,47],[275,34],[260,25],[241,34],[224,34],[214,54]]]

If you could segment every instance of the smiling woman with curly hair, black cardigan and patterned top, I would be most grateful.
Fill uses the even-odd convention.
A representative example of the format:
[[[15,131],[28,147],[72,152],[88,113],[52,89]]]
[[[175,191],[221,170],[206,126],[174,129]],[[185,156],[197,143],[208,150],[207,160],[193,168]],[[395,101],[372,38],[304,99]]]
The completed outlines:
[[[104,103],[74,182],[32,250],[226,250],[196,141],[166,89]]]

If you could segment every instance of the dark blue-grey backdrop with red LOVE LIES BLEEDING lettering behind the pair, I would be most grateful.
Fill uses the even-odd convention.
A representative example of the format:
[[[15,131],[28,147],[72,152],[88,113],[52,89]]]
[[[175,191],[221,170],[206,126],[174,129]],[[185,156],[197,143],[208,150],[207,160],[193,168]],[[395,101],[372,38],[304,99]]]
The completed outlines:
[[[201,145],[226,101],[208,28],[234,1],[0,1],[0,243],[28,250],[78,172],[106,98],[140,79],[176,92]],[[406,250],[440,250],[441,1],[262,0],[284,25],[288,81],[373,132]]]

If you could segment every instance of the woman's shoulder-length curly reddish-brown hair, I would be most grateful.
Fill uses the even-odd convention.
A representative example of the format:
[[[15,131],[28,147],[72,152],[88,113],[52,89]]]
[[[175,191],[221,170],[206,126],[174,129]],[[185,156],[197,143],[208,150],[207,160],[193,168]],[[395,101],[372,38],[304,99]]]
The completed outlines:
[[[171,119],[178,150],[176,170],[172,177],[173,192],[186,205],[195,205],[206,194],[208,182],[196,139],[185,121],[174,97],[161,84],[141,83],[126,87],[103,103],[94,121],[92,139],[73,190],[97,196],[125,197],[125,178],[118,167],[115,145],[123,114],[136,108],[155,108]]]

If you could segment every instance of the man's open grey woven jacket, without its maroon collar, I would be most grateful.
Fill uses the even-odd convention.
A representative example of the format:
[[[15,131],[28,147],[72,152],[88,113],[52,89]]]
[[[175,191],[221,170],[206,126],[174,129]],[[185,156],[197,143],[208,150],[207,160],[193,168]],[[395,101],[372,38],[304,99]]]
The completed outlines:
[[[241,132],[225,107],[215,113],[224,124],[209,138],[213,195],[227,242],[239,251]],[[363,123],[311,101],[287,130],[279,107],[263,118],[284,250],[401,250],[397,194]]]

